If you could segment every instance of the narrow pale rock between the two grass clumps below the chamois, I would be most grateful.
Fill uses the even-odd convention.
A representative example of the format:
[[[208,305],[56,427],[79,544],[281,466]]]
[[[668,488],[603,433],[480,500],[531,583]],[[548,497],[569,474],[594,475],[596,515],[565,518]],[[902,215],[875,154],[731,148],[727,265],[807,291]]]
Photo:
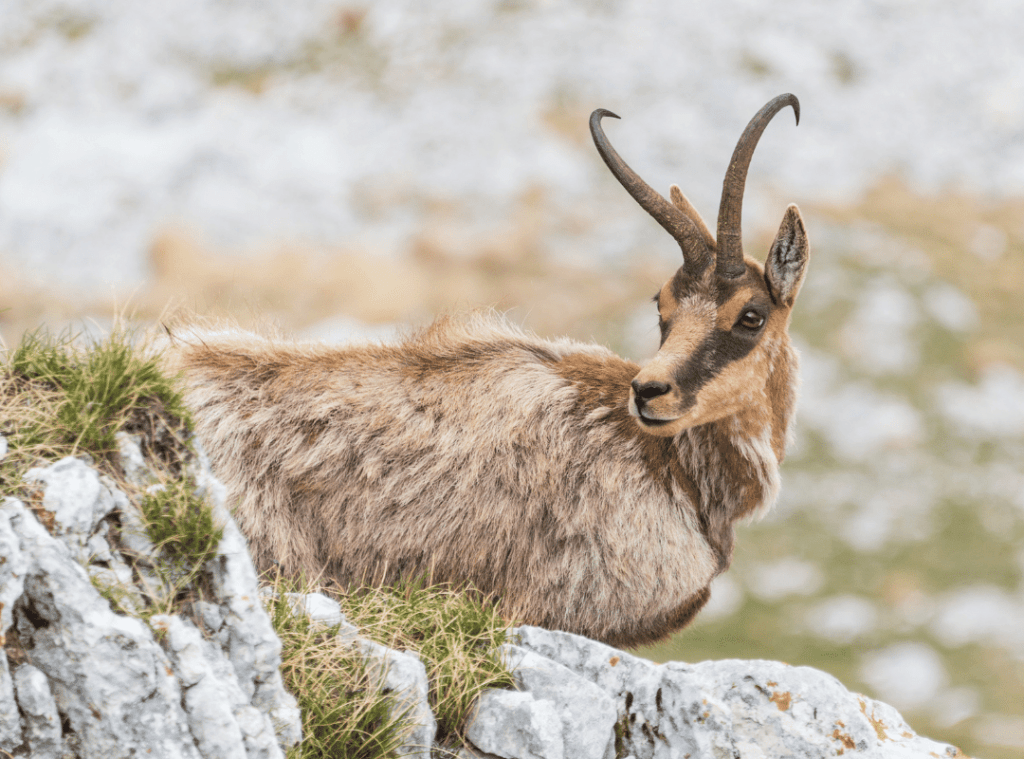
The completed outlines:
[[[340,635],[344,642],[350,642],[346,631]],[[427,668],[413,651],[394,650],[365,638],[358,639],[356,645],[366,658],[370,676],[377,685],[394,694],[394,708],[404,713],[412,725],[412,731],[398,748],[398,756],[430,759],[437,723],[427,700],[430,692]]]

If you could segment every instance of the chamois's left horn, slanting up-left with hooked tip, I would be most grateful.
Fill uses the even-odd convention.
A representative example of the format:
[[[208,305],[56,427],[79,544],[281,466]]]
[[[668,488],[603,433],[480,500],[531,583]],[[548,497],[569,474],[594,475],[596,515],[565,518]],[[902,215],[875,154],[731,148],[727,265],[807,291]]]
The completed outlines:
[[[590,133],[594,137],[597,152],[601,154],[604,163],[611,169],[618,182],[626,187],[626,192],[632,195],[640,207],[653,216],[654,220],[679,243],[679,247],[683,249],[683,265],[686,269],[694,272],[702,271],[711,263],[712,253],[705,245],[696,224],[637,176],[637,173],[620,158],[601,128],[601,119],[605,116],[618,118],[604,109],[598,109],[590,115]]]

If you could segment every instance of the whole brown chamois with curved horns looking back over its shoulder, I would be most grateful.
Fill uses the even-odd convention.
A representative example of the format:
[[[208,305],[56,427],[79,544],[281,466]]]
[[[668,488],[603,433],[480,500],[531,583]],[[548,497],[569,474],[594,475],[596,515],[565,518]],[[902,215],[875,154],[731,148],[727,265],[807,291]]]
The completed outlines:
[[[796,400],[787,335],[808,243],[786,209],[764,267],[740,246],[743,184],[781,95],[730,163],[718,235],[618,157],[620,182],[679,243],[643,368],[488,314],[343,347],[190,329],[197,432],[259,568],[495,597],[509,620],[638,645],[685,626],[732,557],[733,522],[770,508]]]

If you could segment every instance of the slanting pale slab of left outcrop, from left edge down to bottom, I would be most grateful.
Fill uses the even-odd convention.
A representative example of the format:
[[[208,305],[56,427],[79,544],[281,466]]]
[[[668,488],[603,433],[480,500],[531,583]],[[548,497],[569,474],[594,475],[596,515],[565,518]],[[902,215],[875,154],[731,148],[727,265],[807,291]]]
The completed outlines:
[[[65,544],[23,504],[8,499],[2,510],[31,557],[15,613],[18,637],[82,753],[198,759],[181,691],[150,629],[114,614]],[[15,690],[20,702],[16,677]]]

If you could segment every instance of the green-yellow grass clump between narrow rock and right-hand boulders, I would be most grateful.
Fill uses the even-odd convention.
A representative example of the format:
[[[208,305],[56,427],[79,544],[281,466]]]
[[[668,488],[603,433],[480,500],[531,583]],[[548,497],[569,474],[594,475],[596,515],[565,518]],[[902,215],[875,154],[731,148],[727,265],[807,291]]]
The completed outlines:
[[[417,582],[349,592],[338,601],[368,637],[420,655],[442,746],[463,743],[466,720],[484,689],[515,685],[497,652],[508,624],[472,593]]]

